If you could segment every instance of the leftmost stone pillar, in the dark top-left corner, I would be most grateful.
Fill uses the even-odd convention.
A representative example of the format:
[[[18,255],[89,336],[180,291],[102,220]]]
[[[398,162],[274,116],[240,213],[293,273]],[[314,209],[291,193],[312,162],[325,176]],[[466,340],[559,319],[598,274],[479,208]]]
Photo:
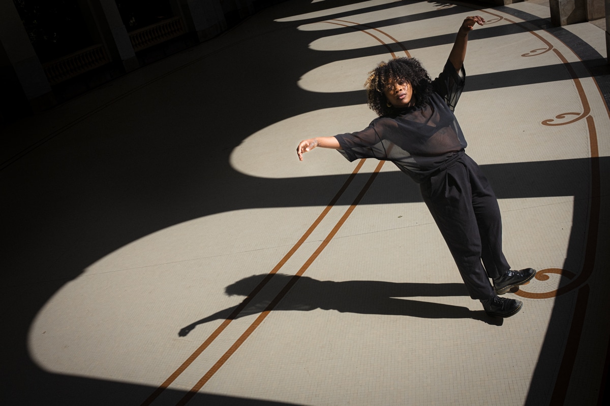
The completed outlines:
[[[27,103],[35,112],[55,104],[51,85],[13,0],[0,0],[0,75],[4,90],[0,92],[0,117],[17,108],[15,103]]]

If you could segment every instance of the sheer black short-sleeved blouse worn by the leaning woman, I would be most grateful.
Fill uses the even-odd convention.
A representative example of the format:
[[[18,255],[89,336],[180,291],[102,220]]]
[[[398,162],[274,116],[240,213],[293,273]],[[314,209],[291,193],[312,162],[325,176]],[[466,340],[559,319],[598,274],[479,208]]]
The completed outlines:
[[[434,92],[422,108],[409,107],[392,116],[378,117],[362,131],[335,136],[345,158],[392,161],[417,183],[443,163],[458,158],[466,147],[453,110],[464,88],[462,75],[447,61],[432,81]]]

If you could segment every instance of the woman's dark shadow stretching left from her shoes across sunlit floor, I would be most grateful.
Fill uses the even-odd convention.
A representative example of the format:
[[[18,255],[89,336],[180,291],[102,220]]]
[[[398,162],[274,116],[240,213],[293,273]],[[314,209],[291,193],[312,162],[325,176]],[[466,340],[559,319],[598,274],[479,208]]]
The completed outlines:
[[[184,337],[198,324],[213,320],[234,320],[237,318],[263,312],[275,298],[259,292],[251,295],[253,290],[263,282],[273,279],[273,284],[285,286],[294,284],[290,295],[274,304],[273,310],[314,309],[337,310],[339,312],[410,316],[422,318],[470,318],[488,324],[501,326],[501,318],[486,315],[483,310],[470,310],[467,307],[451,304],[431,303],[420,300],[404,299],[414,296],[468,296],[464,284],[459,283],[396,283],[381,281],[318,281],[307,276],[292,275],[253,275],[241,279],[225,288],[229,296],[246,296],[244,301],[234,307],[220,310],[206,318],[183,327],[178,333]]]

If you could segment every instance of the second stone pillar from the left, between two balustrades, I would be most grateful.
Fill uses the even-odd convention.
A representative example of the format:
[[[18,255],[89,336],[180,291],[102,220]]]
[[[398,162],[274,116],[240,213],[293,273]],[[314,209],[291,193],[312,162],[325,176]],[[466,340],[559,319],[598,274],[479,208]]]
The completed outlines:
[[[79,0],[81,9],[88,20],[88,26],[95,24],[98,34],[94,37],[100,40],[110,53],[110,59],[120,61],[126,72],[140,67],[131,45],[127,29],[123,25],[114,0]]]

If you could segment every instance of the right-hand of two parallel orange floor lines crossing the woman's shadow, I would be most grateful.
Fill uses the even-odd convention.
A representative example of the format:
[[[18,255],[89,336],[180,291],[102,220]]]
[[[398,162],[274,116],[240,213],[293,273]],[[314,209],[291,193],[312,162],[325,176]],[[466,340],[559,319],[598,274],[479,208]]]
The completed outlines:
[[[207,373],[203,377],[201,377],[201,379],[198,380],[198,382],[195,384],[195,386],[193,386],[193,388],[190,391],[188,391],[188,393],[185,394],[184,397],[182,397],[181,401],[179,401],[176,404],[176,406],[182,406],[182,405],[187,404],[187,402],[190,401],[190,399],[192,399],[193,396],[195,396],[197,394],[197,392],[199,390],[201,390],[201,388],[203,388],[203,386],[206,384],[206,382],[208,380],[210,380],[210,378],[215,373],[217,373],[218,369],[220,369],[220,367],[224,365],[224,363],[231,357],[231,355],[233,355],[235,353],[235,351],[237,351],[237,349],[244,343],[244,341],[246,341],[246,339],[254,332],[254,330],[256,330],[256,328],[258,326],[260,326],[260,323],[262,323],[262,321],[265,320],[265,318],[267,318],[267,316],[269,315],[271,310],[273,310],[274,307],[277,306],[279,301],[281,301],[281,299],[284,298],[286,293],[288,293],[289,290],[292,289],[292,287],[296,283],[296,281],[298,281],[298,279],[305,273],[307,268],[309,268],[309,266],[315,261],[315,259],[320,255],[320,253],[326,248],[328,243],[331,242],[332,238],[337,234],[337,231],[339,231],[339,229],[341,228],[343,223],[345,223],[345,221],[348,219],[348,217],[350,217],[350,214],[354,211],[354,209],[356,208],[358,203],[360,203],[360,201],[362,200],[362,197],[364,197],[364,195],[368,191],[368,188],[371,186],[371,184],[373,184],[373,181],[377,177],[377,175],[378,175],[379,171],[381,170],[381,167],[383,166],[384,163],[385,163],[385,161],[379,162],[379,164],[375,168],[375,171],[373,173],[371,173],[371,176],[370,176],[370,178],[368,178],[367,183],[364,185],[364,187],[362,187],[362,190],[357,195],[357,197],[354,199],[354,201],[350,205],[350,207],[345,211],[345,213],[343,214],[341,219],[339,219],[339,222],[337,222],[337,224],[332,228],[331,232],[328,233],[328,236],[326,236],[326,238],[320,243],[320,245],[314,251],[314,253],[311,254],[309,259],[307,259],[307,261],[303,264],[303,266],[301,266],[301,268],[298,270],[298,272],[284,286],[284,289],[282,289],[281,292],[279,292],[278,295],[275,296],[275,298],[271,301],[271,303],[267,306],[267,308],[262,313],[260,313],[259,317],[257,317],[256,320],[254,320],[253,323],[250,324],[248,329],[246,329],[246,331],[243,332],[243,334],[237,339],[237,341],[235,341],[235,343],[231,346],[231,348],[229,348],[228,351],[226,351],[223,354],[223,356],[220,357],[220,359],[212,366],[212,368],[210,368],[209,371],[207,371]]]

